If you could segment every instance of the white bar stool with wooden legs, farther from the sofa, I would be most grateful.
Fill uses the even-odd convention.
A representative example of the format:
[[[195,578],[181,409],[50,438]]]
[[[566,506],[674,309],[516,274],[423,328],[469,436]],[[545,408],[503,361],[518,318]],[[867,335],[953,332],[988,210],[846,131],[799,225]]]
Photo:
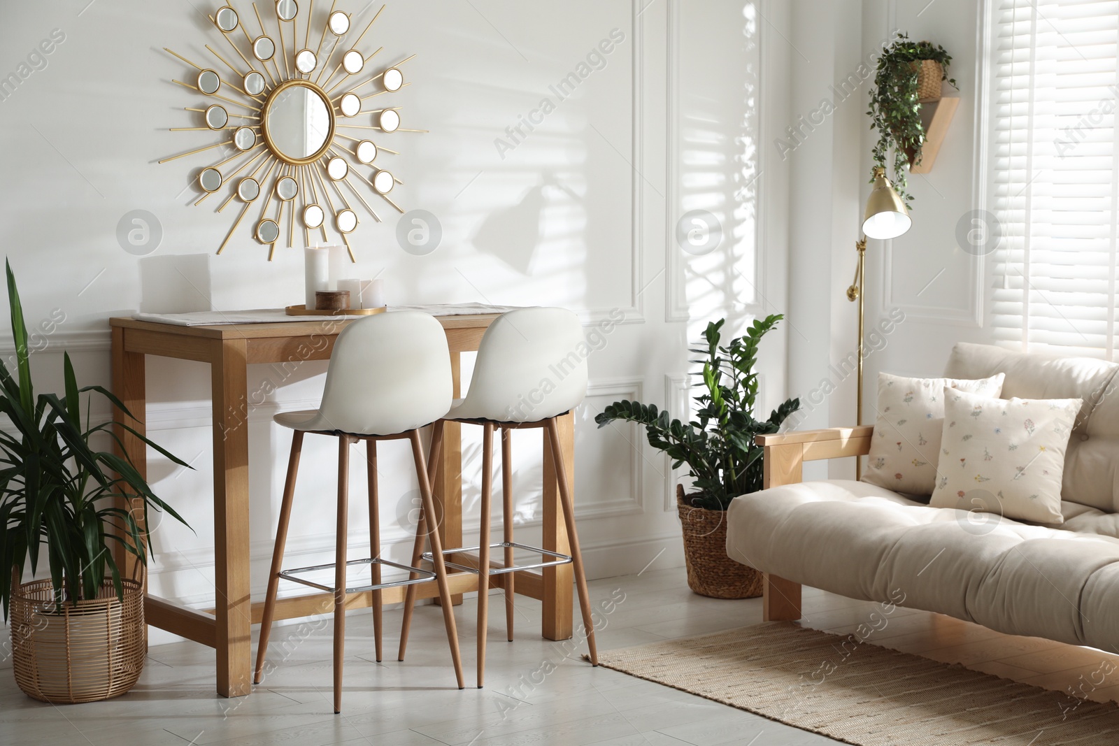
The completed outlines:
[[[327,383],[322,393],[322,404],[318,409],[286,412],[278,414],[275,422],[294,432],[291,441],[291,457],[288,462],[288,479],[284,483],[283,503],[280,508],[280,525],[276,529],[275,548],[272,553],[272,569],[269,575],[269,591],[261,620],[261,640],[256,650],[256,669],[253,683],[261,682],[264,659],[272,631],[275,612],[276,588],[280,578],[293,580],[332,593],[335,610],[333,672],[335,712],[341,710],[342,653],[346,631],[346,596],[351,593],[373,591],[374,634],[376,636],[377,660],[380,660],[382,588],[426,583],[435,579],[443,604],[443,622],[451,646],[451,660],[459,689],[463,688],[462,662],[459,654],[459,639],[454,629],[454,613],[446,580],[446,567],[439,553],[440,539],[435,521],[421,518],[417,532],[427,525],[427,539],[436,548],[434,572],[422,570],[413,561],[412,566],[397,565],[380,558],[380,530],[377,506],[377,441],[408,440],[412,457],[423,499],[423,516],[434,516],[435,508],[431,493],[429,465],[424,463],[419,428],[439,419],[451,405],[451,356],[446,346],[446,334],[442,325],[426,313],[398,311],[383,313],[355,321],[338,334]],[[282,570],[288,523],[291,520],[292,500],[295,494],[295,476],[299,472],[299,456],[303,435],[330,435],[338,438],[338,526],[335,561],[314,567]],[[358,441],[366,442],[368,452],[369,483],[369,532],[370,550],[376,556],[368,559],[346,559],[347,507],[349,499],[349,451]],[[438,457],[438,454],[435,454]],[[431,466],[434,466],[434,459]],[[433,471],[433,470],[432,470]],[[346,582],[346,568],[351,565],[372,565],[373,583],[350,586]],[[408,570],[408,578],[382,583],[380,566],[387,565]],[[312,583],[299,577],[300,574],[335,568],[333,586]],[[414,589],[412,589],[414,592]]]

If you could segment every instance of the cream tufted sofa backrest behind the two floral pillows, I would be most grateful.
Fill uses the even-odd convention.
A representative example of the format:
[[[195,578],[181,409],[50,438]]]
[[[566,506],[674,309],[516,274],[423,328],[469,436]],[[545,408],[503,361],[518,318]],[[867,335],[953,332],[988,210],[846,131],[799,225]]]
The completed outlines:
[[[1084,400],[1064,457],[1061,499],[1119,512],[1119,363],[1061,358],[960,342],[950,378],[1006,374],[1003,398]]]

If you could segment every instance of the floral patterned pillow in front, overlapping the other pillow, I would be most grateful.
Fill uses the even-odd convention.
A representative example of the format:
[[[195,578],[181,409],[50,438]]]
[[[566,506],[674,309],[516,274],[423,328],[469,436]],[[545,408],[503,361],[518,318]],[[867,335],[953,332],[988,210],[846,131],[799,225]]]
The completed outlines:
[[[993,399],[944,389],[933,508],[995,506],[1007,518],[1063,523],[1061,478],[1081,399]],[[988,510],[990,512],[990,510]]]

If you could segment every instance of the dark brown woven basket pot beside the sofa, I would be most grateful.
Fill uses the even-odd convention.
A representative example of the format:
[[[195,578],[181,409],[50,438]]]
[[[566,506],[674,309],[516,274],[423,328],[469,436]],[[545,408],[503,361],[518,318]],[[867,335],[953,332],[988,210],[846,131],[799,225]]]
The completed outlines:
[[[726,511],[694,508],[676,485],[676,507],[684,529],[684,559],[688,587],[712,598],[754,598],[762,595],[762,574],[726,556]]]

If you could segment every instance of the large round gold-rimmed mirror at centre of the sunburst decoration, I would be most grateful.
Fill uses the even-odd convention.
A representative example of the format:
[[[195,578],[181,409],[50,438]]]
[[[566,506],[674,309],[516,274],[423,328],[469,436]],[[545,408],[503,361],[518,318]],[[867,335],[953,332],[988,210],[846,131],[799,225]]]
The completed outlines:
[[[333,114],[322,92],[302,81],[281,85],[264,108],[264,135],[269,145],[289,163],[319,158],[330,144]]]

